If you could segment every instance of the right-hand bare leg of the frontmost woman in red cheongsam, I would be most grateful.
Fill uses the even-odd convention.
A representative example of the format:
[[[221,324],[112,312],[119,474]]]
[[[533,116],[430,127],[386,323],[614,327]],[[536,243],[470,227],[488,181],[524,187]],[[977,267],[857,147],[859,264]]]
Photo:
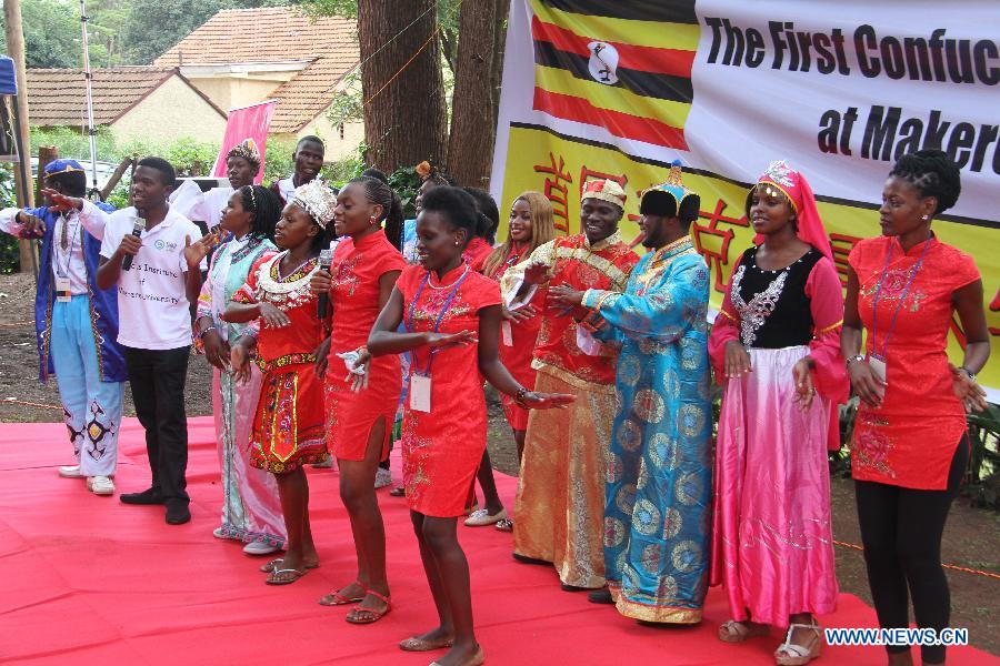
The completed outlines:
[[[442,666],[464,664],[479,650],[472,630],[472,594],[469,562],[456,536],[457,518],[423,516],[423,541],[437,563],[441,591],[451,614],[454,645],[438,659]],[[436,599],[437,601],[437,599]]]

